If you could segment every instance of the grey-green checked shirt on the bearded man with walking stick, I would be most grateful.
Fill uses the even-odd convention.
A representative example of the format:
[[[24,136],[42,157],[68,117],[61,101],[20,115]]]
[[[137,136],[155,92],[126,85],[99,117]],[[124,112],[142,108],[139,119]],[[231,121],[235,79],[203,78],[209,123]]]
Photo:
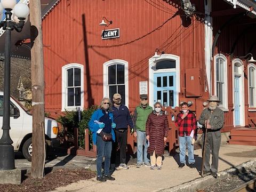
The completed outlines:
[[[221,129],[224,125],[224,113],[220,108],[216,108],[213,110],[211,114],[211,110],[209,108],[204,109],[202,114],[198,120],[198,122],[205,126],[205,120],[209,120],[209,124],[211,125],[212,130]]]

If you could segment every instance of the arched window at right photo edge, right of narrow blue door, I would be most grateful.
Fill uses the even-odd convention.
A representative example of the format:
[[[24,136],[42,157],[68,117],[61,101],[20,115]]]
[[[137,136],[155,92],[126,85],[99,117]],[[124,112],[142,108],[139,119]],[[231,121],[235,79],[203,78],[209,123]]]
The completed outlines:
[[[249,107],[256,107],[256,67],[253,64],[248,66],[248,86],[249,86]]]

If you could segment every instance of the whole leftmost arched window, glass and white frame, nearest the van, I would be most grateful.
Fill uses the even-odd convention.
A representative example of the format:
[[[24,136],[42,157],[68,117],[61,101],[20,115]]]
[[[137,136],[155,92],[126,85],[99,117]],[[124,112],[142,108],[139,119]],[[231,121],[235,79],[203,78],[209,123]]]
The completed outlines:
[[[62,67],[61,110],[76,110],[84,107],[84,66],[70,63]]]

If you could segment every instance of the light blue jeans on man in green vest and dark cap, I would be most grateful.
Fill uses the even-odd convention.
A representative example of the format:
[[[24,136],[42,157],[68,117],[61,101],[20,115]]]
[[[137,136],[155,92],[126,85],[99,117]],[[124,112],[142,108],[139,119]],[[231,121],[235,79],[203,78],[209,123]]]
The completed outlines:
[[[144,145],[144,151],[143,151],[143,145]],[[148,144],[146,142],[146,132],[145,131],[137,131],[137,164],[143,163],[143,157],[144,157],[144,163],[149,164],[148,159]]]

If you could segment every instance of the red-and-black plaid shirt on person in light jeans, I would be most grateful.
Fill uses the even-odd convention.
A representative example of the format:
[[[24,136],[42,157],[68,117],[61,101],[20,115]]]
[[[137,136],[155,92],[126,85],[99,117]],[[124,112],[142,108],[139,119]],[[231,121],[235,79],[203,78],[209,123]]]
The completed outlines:
[[[181,111],[175,120],[175,125],[179,127],[179,135],[181,137],[189,136],[192,130],[196,129],[196,115],[189,111],[185,118],[181,118],[183,111]]]

